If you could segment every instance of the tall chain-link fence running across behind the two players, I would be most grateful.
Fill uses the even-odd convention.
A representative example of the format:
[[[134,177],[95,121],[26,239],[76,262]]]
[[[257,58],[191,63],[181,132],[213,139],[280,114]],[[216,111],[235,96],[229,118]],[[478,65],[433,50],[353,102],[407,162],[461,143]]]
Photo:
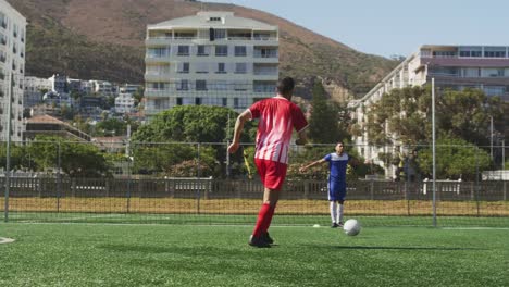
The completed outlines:
[[[334,147],[291,146],[275,224],[327,224],[328,166],[298,170]],[[127,140],[108,147],[14,144],[13,171],[0,177],[0,209],[14,222],[251,224],[263,189],[254,146],[243,145],[235,154],[226,148],[226,142]],[[346,216],[373,226],[431,226],[435,204],[438,226],[509,226],[508,174],[485,147],[437,146],[435,190],[426,145],[347,146],[346,152],[353,158]]]

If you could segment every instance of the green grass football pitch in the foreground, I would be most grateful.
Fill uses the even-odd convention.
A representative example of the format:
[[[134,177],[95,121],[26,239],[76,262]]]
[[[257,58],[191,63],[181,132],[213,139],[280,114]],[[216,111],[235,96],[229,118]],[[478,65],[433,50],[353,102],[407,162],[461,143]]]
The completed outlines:
[[[276,219],[276,217],[275,217]],[[0,286],[508,286],[509,228],[0,223]]]

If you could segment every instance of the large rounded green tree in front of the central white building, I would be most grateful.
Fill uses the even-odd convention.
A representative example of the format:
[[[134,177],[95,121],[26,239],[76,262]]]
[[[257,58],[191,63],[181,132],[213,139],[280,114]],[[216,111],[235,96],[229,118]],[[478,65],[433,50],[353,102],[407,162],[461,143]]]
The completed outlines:
[[[134,150],[135,165],[141,170],[167,175],[189,174],[190,161],[197,162],[197,145],[171,145],[167,142],[221,142],[212,148],[200,149],[200,164],[204,164],[201,176],[225,174],[226,139],[232,137],[237,113],[221,107],[183,105],[158,114],[149,124],[133,134],[137,146]],[[229,118],[229,121],[228,121]],[[256,128],[246,123],[243,142],[252,142]],[[151,145],[151,142],[163,142]],[[232,155],[233,162],[243,162],[243,157]],[[177,169],[177,165],[179,166]],[[201,165],[200,165],[201,166]],[[219,166],[219,167],[218,167]],[[240,166],[240,165],[238,165]],[[197,170],[197,169],[196,169]],[[240,173],[234,170],[233,173]]]

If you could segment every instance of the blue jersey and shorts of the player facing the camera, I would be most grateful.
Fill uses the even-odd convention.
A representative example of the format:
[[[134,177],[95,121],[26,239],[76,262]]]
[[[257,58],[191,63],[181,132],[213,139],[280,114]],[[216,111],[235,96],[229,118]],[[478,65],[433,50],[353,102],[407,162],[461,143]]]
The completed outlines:
[[[338,155],[333,152],[323,159],[328,162],[328,200],[345,200],[348,154],[343,152],[342,155]]]

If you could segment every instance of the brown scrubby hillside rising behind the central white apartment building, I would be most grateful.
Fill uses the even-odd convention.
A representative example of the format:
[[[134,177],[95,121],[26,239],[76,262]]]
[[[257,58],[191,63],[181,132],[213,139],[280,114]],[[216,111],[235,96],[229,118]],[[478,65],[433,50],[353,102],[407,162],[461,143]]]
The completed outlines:
[[[28,20],[26,74],[142,83],[147,24],[206,10],[233,11],[280,27],[281,73],[316,77],[337,100],[361,96],[397,62],[358,52],[275,15],[233,4],[178,0],[8,0]]]

